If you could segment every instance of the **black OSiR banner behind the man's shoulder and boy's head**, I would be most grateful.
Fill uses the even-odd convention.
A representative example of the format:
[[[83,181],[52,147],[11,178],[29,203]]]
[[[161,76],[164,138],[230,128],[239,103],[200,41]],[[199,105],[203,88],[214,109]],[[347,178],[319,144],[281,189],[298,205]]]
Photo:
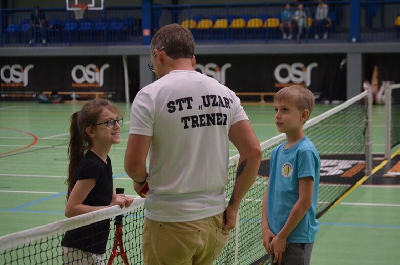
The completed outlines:
[[[301,84],[320,99],[346,99],[345,54],[196,56],[196,71],[235,92],[277,92]]]

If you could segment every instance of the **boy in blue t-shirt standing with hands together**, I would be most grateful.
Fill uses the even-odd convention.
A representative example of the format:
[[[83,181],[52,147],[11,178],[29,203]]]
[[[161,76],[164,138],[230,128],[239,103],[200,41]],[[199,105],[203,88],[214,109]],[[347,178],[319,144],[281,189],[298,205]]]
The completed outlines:
[[[285,87],[274,98],[275,124],[286,142],[271,153],[262,205],[263,244],[272,264],[310,264],[319,227],[315,212],[321,161],[303,125],[314,101],[312,92],[300,85]]]

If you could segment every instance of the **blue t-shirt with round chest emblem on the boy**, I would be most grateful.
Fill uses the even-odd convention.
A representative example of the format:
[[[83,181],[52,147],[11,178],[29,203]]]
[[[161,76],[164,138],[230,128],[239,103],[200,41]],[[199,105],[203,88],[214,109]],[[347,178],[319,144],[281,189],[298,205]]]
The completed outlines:
[[[318,185],[320,182],[320,157],[314,144],[304,137],[292,148],[284,149],[286,142],[273,149],[270,160],[267,215],[270,230],[277,235],[299,199],[299,178],[312,177],[314,191],[312,206],[287,238],[288,243],[312,243],[318,231]]]

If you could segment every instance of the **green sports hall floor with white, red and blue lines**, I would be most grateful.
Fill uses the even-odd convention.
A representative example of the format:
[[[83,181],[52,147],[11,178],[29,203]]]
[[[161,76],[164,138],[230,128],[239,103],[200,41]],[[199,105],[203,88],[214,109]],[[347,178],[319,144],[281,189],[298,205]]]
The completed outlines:
[[[123,169],[130,105],[118,106],[126,114],[123,140],[110,152],[114,186],[134,195]],[[334,106],[317,105],[311,117]],[[0,236],[65,218],[69,117],[81,107],[80,102],[0,102]],[[271,105],[245,106],[245,110],[260,141],[279,134]],[[373,106],[375,154],[383,153],[384,129],[384,106]],[[235,155],[235,148],[230,149],[230,155]],[[375,174],[367,180],[370,184],[355,189],[320,218],[312,264],[398,263],[400,182],[381,176]]]

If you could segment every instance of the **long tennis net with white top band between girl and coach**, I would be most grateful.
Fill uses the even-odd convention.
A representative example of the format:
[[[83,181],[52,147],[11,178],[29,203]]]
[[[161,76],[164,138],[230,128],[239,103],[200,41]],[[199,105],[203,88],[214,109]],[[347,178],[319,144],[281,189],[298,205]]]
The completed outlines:
[[[314,142],[322,160],[317,207],[319,216],[370,172],[372,159],[370,103],[370,95],[363,92],[309,120],[304,126],[306,135]],[[263,160],[258,176],[243,198],[238,222],[236,228],[231,231],[227,246],[214,264],[265,264],[268,262],[269,256],[266,254],[261,238],[261,205],[268,184],[270,154],[272,149],[284,140],[285,135],[281,134],[261,144]],[[227,198],[233,191],[238,160],[238,155],[229,159]],[[143,264],[140,250],[144,219],[143,205],[144,199],[135,198],[129,208],[121,209],[114,206],[0,237],[0,263],[62,263],[61,241],[65,232],[88,225],[93,226],[101,220],[105,220],[103,222],[107,222],[109,228],[108,237],[105,239],[107,241],[104,242],[106,251],[102,255],[100,253],[100,256],[86,258],[103,259],[107,262],[113,257],[111,253],[121,252],[121,246],[118,246],[117,251],[113,250],[113,247],[115,238],[119,239],[119,230],[118,226],[114,225],[114,219],[122,215],[121,241],[116,242],[122,242],[129,264]],[[111,222],[109,222],[110,219]],[[98,234],[95,232],[92,234],[92,239],[82,238],[82,240],[91,241],[93,244],[98,243]],[[71,256],[77,260],[76,262],[79,262],[81,258],[78,254]],[[122,256],[117,256],[114,263],[123,264],[124,259]]]

